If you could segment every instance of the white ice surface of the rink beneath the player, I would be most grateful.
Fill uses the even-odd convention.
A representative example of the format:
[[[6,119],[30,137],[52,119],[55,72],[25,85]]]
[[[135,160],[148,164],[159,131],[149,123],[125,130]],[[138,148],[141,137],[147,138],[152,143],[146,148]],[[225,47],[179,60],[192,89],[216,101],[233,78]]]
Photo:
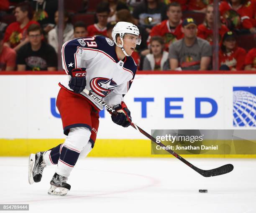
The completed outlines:
[[[69,193],[56,197],[47,194],[56,167],[29,185],[28,158],[0,157],[0,204],[29,204],[32,213],[256,213],[256,159],[188,160],[234,170],[202,177],[175,158],[87,158],[74,167]]]

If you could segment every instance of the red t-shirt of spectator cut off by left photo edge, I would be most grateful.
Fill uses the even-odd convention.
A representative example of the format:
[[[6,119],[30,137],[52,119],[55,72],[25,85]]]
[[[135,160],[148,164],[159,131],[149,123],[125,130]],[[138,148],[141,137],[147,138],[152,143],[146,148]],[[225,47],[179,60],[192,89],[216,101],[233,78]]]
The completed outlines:
[[[5,71],[7,66],[16,66],[16,52],[10,47],[3,46],[0,53],[0,71]]]

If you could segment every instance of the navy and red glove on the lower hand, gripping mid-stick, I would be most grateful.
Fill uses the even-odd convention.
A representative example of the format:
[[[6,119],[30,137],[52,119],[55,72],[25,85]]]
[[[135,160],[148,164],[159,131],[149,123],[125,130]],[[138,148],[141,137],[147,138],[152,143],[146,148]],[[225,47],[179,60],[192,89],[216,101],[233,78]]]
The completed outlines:
[[[132,121],[131,112],[129,111],[125,103],[122,101],[121,104],[115,105],[112,108],[118,112],[117,115],[111,115],[112,121],[122,127],[129,127]]]

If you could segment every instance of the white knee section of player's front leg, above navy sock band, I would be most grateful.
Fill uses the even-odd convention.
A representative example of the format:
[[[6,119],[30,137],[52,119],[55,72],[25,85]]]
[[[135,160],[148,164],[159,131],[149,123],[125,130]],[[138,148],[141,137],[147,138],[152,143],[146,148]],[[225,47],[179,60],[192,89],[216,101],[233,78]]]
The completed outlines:
[[[63,145],[70,150],[81,152],[88,144],[90,136],[91,131],[86,127],[71,128]]]

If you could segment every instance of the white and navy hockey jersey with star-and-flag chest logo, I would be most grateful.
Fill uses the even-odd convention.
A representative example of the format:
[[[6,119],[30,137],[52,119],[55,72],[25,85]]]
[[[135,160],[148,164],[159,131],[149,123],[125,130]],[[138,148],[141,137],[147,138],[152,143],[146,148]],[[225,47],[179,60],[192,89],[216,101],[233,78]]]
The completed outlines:
[[[59,83],[59,86],[73,92],[69,88],[72,69],[86,68],[85,89],[110,106],[123,101],[123,96],[134,79],[137,66],[131,56],[126,56],[123,61],[118,59],[115,53],[115,43],[112,40],[98,35],[77,38],[64,43],[61,53],[62,66],[68,76]],[[103,109],[102,105],[83,91],[80,94],[97,107],[96,109]]]

